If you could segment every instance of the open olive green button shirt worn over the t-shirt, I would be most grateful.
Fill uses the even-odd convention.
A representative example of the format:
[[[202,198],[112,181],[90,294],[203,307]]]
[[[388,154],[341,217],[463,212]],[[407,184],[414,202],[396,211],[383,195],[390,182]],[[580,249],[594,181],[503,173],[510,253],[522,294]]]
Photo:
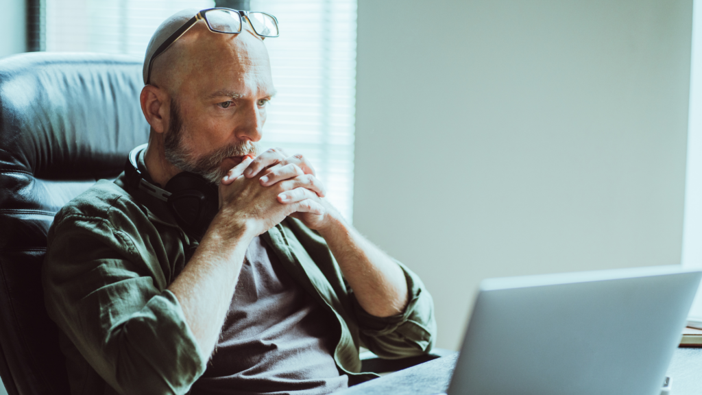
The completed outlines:
[[[333,352],[349,384],[360,373],[359,347],[383,358],[423,354],[435,342],[433,302],[404,271],[406,310],[379,318],[364,311],[324,238],[287,218],[261,235],[291,277],[336,317]],[[163,202],[117,181],[98,181],[56,214],[42,280],[49,316],[60,328],[72,394],[185,394],[207,360],[166,290],[198,242]]]

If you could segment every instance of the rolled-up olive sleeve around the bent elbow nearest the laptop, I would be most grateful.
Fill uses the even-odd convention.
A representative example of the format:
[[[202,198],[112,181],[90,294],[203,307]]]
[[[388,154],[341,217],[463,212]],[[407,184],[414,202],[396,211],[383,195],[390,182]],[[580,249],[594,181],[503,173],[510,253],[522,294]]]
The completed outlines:
[[[352,304],[365,347],[382,358],[424,354],[434,347],[437,324],[434,302],[420,278],[397,262],[407,281],[409,303],[401,314],[377,317],[366,312],[353,294]]]

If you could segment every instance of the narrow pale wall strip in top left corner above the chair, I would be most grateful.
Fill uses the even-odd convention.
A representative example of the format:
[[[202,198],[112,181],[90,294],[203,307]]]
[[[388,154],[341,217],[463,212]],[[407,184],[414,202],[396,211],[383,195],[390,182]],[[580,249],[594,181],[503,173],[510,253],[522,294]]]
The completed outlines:
[[[0,58],[27,51],[27,5],[24,0],[0,0]]]

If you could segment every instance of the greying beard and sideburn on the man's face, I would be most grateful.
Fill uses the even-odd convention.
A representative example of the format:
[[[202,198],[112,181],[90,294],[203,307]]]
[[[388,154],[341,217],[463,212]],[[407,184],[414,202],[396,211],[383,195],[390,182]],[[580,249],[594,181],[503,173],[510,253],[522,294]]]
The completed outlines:
[[[190,171],[203,176],[211,183],[219,185],[229,169],[222,169],[220,164],[227,157],[253,155],[258,156],[260,147],[253,141],[225,145],[212,153],[195,156],[185,148],[183,143],[183,119],[180,117],[179,105],[176,100],[171,101],[171,119],[168,122],[168,131],[164,140],[166,160],[182,171]]]

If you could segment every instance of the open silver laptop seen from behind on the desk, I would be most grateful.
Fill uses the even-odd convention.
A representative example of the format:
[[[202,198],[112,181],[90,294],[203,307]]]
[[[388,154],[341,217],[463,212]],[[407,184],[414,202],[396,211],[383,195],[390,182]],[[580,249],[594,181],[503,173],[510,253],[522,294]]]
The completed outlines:
[[[447,394],[661,394],[701,277],[657,266],[484,280]]]

